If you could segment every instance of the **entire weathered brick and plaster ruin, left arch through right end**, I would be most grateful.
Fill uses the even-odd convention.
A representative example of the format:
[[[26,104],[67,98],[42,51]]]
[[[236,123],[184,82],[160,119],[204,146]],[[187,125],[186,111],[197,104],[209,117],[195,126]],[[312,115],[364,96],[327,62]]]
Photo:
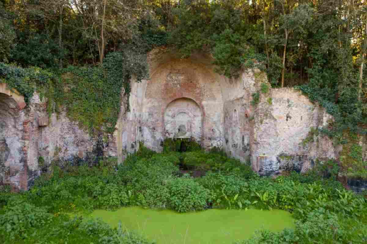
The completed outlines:
[[[133,78],[130,94],[121,90],[111,135],[92,137],[66,111],[49,116],[39,94],[26,106],[21,95],[0,84],[0,184],[28,189],[53,160],[75,164],[103,155],[117,156],[121,163],[140,142],[161,151],[165,138],[190,138],[206,150],[217,147],[261,175],[305,171],[316,158],[339,157],[340,146],[313,133],[333,118],[297,90],[271,89],[259,70],[226,78],[214,71],[208,55],[181,59],[165,49],[153,50],[148,61],[150,79]],[[360,145],[366,161],[367,136]]]

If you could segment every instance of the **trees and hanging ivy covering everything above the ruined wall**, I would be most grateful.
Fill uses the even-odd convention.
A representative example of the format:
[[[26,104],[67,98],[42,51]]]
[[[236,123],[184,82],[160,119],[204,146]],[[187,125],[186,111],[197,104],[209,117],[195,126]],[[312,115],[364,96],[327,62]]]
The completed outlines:
[[[0,4],[0,61],[18,66],[0,64],[2,81],[27,101],[34,86],[46,87],[50,112],[67,99],[75,101],[64,104],[69,116],[91,131],[113,130],[121,87],[128,95],[131,76],[146,77],[146,53],[166,45],[183,58],[211,53],[217,72],[229,77],[256,67],[266,72],[273,87],[296,87],[334,116],[333,124],[321,132],[339,143],[347,139],[345,131],[367,133],[365,2],[2,0]],[[265,85],[262,93],[267,93]],[[70,92],[63,95],[65,90]],[[254,105],[259,95],[253,94]]]

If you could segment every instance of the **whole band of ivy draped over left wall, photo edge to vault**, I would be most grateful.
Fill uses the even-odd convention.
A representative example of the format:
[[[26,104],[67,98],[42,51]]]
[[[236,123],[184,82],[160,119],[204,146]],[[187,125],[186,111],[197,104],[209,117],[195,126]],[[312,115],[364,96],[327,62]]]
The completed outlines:
[[[94,135],[115,130],[120,92],[124,88],[127,95],[130,93],[133,74],[138,81],[147,77],[146,55],[112,52],[106,56],[103,67],[70,66],[56,71],[0,63],[1,81],[24,95],[26,103],[37,89],[41,97],[48,98],[50,115],[62,105],[70,119]]]

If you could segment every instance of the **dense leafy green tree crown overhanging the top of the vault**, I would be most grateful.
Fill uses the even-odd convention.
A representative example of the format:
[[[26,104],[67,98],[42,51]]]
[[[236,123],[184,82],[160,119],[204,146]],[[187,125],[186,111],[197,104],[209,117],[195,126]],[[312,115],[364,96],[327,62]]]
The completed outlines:
[[[217,72],[236,76],[248,60],[254,58],[254,49],[248,45],[254,27],[246,22],[243,12],[233,8],[231,1],[200,1],[190,8],[175,11],[177,26],[170,33],[170,43],[183,57],[197,50],[211,52]]]

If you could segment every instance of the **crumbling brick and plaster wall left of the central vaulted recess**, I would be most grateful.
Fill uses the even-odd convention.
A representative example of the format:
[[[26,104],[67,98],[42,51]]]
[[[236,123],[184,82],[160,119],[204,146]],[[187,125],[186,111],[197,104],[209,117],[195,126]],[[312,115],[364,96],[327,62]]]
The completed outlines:
[[[52,160],[75,162],[102,154],[117,156],[115,141],[114,135],[106,142],[90,136],[70,121],[65,111],[49,116],[47,100],[38,93],[26,105],[16,90],[0,83],[0,185],[26,190]],[[43,165],[39,165],[40,157]]]

